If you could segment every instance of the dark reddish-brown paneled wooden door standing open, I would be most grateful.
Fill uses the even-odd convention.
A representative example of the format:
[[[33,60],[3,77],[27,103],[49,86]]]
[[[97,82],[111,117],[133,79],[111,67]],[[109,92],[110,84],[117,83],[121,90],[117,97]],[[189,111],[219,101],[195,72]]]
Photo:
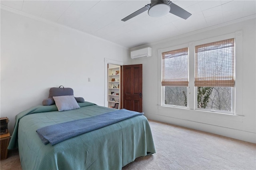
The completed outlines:
[[[142,112],[142,64],[123,66],[123,108]]]

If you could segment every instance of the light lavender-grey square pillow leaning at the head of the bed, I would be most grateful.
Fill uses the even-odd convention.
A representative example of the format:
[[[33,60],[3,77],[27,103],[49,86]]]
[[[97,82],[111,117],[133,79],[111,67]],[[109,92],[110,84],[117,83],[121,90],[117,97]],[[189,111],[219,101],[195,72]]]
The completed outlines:
[[[76,102],[74,95],[72,96],[53,96],[58,111],[78,109],[80,106]]]

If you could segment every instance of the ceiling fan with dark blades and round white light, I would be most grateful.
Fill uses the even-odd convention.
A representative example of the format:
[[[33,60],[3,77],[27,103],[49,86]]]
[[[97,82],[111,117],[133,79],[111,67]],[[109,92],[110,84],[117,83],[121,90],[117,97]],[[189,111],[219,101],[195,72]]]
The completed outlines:
[[[122,19],[122,21],[130,20],[146,10],[148,10],[148,15],[152,17],[161,17],[168,14],[168,12],[185,20],[191,16],[189,12],[169,0],[151,0],[151,4],[145,5],[143,8]]]

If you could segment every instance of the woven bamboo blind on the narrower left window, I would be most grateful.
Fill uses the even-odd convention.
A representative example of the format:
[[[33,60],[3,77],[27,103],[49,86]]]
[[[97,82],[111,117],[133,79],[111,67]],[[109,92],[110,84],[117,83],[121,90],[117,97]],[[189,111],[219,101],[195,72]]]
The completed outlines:
[[[188,48],[162,53],[162,86],[188,86]]]

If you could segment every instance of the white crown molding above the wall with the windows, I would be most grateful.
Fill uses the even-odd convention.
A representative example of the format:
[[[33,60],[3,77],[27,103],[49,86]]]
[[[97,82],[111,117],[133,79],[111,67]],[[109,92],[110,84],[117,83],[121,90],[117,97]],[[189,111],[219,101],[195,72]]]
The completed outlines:
[[[168,41],[172,41],[172,40],[175,40],[175,39],[187,37],[187,36],[190,36],[190,35],[194,35],[196,33],[202,33],[204,31],[210,31],[212,29],[216,29],[216,28],[219,28],[219,27],[224,27],[224,26],[227,26],[227,25],[231,25],[231,24],[234,24],[234,23],[239,23],[239,22],[242,22],[242,21],[251,20],[251,19],[255,19],[255,18],[256,18],[256,14],[251,15],[251,16],[247,16],[247,17],[244,17],[244,18],[239,18],[237,20],[221,23],[221,24],[218,24],[218,25],[206,27],[206,28],[203,28],[203,29],[198,29],[196,31],[192,31],[192,32],[189,32],[189,33],[184,33],[184,34],[177,35],[177,36],[174,36],[174,37],[170,37],[170,38],[167,38],[167,39],[162,39],[160,41],[154,41],[152,43],[147,43],[147,44],[144,44],[144,45],[132,47],[132,48],[130,48],[130,50],[144,48],[144,47],[148,47],[150,45],[156,45],[156,44],[160,44],[160,43],[166,43]]]

